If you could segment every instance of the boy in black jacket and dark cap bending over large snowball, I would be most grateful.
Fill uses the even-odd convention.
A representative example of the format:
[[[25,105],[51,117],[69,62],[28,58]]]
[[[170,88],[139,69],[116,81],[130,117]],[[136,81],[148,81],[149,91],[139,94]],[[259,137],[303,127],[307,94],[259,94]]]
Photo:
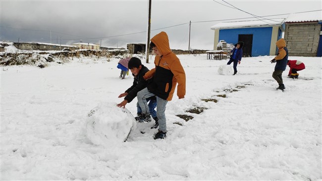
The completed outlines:
[[[129,89],[125,90],[124,93],[121,93],[118,96],[118,97],[124,97],[124,96],[125,97],[121,103],[117,104],[117,107],[124,107],[125,108],[125,105],[127,103],[131,102],[136,97],[138,91],[143,90],[148,85],[148,82],[143,79],[143,76],[145,75],[145,73],[147,73],[149,71],[149,69],[141,63],[141,60],[139,58],[132,57],[129,60],[128,68],[130,69],[130,71],[132,72],[132,75],[134,76],[133,85]],[[157,128],[159,124],[158,124],[157,112],[155,111],[155,108],[157,107],[156,96],[149,97],[148,100],[150,100],[150,102],[149,102],[150,114],[153,117],[153,119],[156,121],[156,125],[152,128]],[[135,117],[135,119],[137,121],[142,120],[142,119],[139,119],[140,116],[142,116],[142,110],[141,110],[141,107],[139,106],[139,104],[137,104],[137,111],[138,111],[138,113],[137,113],[138,117]],[[148,119],[146,121],[150,122],[151,117],[150,117],[150,119]]]

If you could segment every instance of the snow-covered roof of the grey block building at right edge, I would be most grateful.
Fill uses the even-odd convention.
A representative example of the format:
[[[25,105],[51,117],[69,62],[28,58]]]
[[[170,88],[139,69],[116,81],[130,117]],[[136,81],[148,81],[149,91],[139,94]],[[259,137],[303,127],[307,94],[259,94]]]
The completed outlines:
[[[321,11],[293,13],[287,16],[286,23],[314,22],[322,21]]]

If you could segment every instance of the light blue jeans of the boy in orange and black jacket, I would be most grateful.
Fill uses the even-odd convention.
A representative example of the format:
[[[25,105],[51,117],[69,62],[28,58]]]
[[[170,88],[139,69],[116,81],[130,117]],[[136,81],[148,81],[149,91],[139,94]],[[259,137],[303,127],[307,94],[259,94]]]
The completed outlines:
[[[148,88],[145,88],[138,92],[138,104],[142,109],[142,114],[147,114],[149,111],[147,98],[154,94],[149,92]],[[159,130],[166,132],[166,119],[165,119],[165,106],[168,101],[157,96],[157,117],[159,118]]]

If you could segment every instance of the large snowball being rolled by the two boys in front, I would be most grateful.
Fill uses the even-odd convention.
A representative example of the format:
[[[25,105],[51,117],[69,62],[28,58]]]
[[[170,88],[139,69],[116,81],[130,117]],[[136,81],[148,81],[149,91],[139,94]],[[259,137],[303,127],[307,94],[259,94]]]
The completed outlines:
[[[130,111],[112,102],[100,103],[87,116],[86,136],[98,145],[125,141],[136,123]]]

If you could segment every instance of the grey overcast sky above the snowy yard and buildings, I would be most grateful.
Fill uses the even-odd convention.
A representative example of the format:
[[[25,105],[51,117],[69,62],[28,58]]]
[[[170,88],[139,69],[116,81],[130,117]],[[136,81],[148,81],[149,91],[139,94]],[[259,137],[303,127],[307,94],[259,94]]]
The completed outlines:
[[[149,0],[0,0],[0,39],[59,44],[61,38],[66,45],[82,40],[108,47],[146,43],[148,4]],[[172,49],[188,49],[191,21],[190,47],[213,49],[210,27],[223,20],[251,14],[286,18],[269,15],[320,9],[321,0],[152,0],[151,38],[165,31]],[[234,21],[241,20],[251,19]]]

